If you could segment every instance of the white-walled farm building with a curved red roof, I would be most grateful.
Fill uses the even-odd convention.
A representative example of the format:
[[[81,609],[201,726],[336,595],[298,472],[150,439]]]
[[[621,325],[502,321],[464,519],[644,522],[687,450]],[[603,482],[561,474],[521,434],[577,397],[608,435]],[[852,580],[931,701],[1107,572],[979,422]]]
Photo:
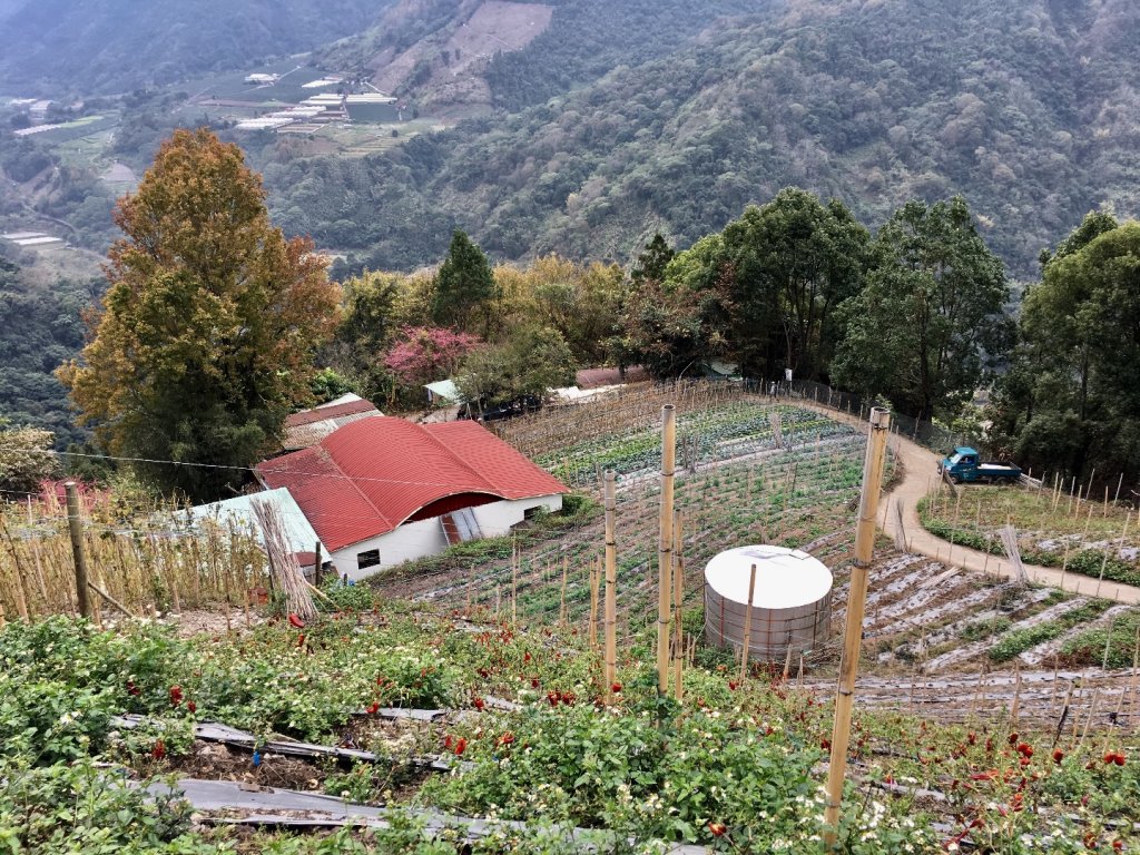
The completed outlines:
[[[352,579],[505,535],[535,513],[561,508],[567,491],[467,421],[363,418],[255,472],[267,489],[288,489],[336,571]]]

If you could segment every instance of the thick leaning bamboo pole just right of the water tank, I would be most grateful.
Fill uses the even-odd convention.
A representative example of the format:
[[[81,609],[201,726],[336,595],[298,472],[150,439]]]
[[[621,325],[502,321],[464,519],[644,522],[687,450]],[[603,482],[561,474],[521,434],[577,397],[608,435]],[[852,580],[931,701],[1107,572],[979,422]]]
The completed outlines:
[[[890,414],[879,407],[871,410],[866,457],[863,462],[863,495],[860,499],[858,527],[855,530],[855,564],[847,594],[847,626],[839,661],[839,687],[836,692],[836,719],[831,732],[831,762],[828,765],[828,800],[824,808],[824,845],[836,848],[839,830],[839,807],[842,801],[847,747],[850,741],[852,707],[855,701],[855,677],[863,640],[863,614],[866,610],[868,576],[874,551],[874,520],[882,490],[885,445],[890,431]]]

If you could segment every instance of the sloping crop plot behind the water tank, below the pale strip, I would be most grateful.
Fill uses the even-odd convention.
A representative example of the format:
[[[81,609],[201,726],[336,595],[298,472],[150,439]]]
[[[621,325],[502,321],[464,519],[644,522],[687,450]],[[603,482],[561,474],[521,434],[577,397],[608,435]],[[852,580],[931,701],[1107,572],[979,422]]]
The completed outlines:
[[[675,506],[682,516],[686,604],[701,602],[705,563],[732,546],[800,547],[815,542],[814,552],[824,560],[845,554],[854,532],[852,504],[862,475],[863,445],[862,437],[848,431],[829,445],[679,473]],[[657,601],[659,503],[658,486],[650,481],[618,495],[619,614],[632,629],[650,619]],[[595,518],[576,530],[521,545],[516,571],[510,554],[500,553],[435,576],[418,572],[413,563],[399,577],[377,585],[390,595],[454,608],[465,606],[470,597],[474,606],[491,611],[497,606],[530,625],[549,626],[563,614],[581,624],[589,609],[589,568],[602,547],[603,523]]]

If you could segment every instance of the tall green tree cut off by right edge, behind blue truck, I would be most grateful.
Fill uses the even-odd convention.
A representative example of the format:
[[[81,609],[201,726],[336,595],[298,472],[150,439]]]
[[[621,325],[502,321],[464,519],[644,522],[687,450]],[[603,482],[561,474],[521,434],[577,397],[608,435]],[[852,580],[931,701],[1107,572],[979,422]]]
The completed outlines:
[[[1140,477],[1140,222],[1089,214],[1026,292],[991,407],[1025,465]]]

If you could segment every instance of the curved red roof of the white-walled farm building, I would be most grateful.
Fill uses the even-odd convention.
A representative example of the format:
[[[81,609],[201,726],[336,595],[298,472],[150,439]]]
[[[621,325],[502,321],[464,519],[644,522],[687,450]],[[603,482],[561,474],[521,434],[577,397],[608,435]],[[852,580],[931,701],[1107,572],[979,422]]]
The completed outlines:
[[[333,552],[404,522],[567,491],[474,422],[364,418],[320,445],[260,463],[256,471],[269,487],[288,488]]]

